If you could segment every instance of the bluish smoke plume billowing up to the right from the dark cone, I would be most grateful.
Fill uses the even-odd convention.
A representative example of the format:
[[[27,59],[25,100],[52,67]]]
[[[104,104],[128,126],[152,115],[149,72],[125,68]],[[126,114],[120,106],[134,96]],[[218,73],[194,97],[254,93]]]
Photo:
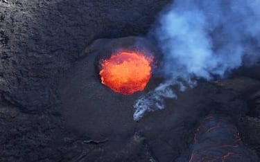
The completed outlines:
[[[168,91],[173,85],[184,89],[183,84],[193,87],[196,78],[223,78],[232,69],[257,62],[260,1],[176,0],[162,12],[159,26],[152,33],[162,50],[163,63],[159,70],[167,86],[161,84],[159,87],[163,88],[137,100],[135,120],[155,107],[164,108],[164,98],[176,97],[162,96],[164,89]]]

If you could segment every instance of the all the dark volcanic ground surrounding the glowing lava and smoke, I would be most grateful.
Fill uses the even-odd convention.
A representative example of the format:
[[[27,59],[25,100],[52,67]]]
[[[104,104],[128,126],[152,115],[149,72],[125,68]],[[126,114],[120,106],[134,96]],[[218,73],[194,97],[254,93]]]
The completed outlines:
[[[0,0],[0,161],[259,161],[260,64],[138,123],[156,78],[133,96],[98,79],[96,57],[132,45],[168,2]]]

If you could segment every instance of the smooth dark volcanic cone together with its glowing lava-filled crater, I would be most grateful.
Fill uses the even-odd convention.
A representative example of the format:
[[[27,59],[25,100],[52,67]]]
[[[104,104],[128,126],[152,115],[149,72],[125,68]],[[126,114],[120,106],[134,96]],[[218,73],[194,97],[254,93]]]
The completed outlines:
[[[86,57],[68,71],[60,84],[60,96],[64,104],[62,114],[67,118],[67,123],[95,138],[107,134],[110,136],[113,132],[120,132],[124,136],[132,134],[135,125],[132,103],[156,86],[151,75],[155,60],[158,60],[155,53],[155,46],[141,37],[98,39],[88,46]],[[132,60],[135,61],[133,65]],[[112,75],[114,69],[102,69],[102,63],[103,68],[127,68],[119,76]],[[111,75],[115,76],[114,80],[107,80],[106,77],[111,79]],[[130,85],[120,81],[122,76]],[[141,80],[132,79],[133,76]],[[119,87],[116,87],[118,84]],[[114,93],[115,90],[123,92]],[[122,95],[130,93],[132,95]]]

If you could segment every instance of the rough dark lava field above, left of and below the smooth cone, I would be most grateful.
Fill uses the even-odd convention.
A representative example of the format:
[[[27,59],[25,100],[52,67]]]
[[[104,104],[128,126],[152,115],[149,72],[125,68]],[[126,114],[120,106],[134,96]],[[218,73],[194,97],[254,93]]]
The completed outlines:
[[[86,161],[101,154],[106,161],[149,161],[135,138],[110,152],[103,139],[71,134],[55,111],[55,91],[94,39],[145,34],[166,3],[0,0],[0,161]]]

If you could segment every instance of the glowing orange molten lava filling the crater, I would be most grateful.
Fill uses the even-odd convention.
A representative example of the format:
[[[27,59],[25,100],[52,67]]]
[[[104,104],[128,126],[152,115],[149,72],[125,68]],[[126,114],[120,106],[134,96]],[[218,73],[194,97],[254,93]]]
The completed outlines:
[[[137,51],[112,54],[101,61],[101,82],[124,95],[143,91],[151,76],[152,62],[153,57]]]

